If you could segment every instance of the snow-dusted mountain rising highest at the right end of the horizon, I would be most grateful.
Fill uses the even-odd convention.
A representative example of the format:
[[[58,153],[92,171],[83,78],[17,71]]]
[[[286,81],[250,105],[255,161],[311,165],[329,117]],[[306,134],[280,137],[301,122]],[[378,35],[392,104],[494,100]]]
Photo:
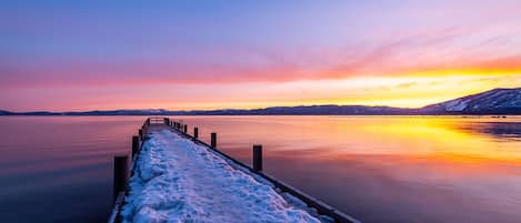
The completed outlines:
[[[421,113],[502,114],[521,113],[521,88],[494,89],[450,101],[427,105]]]

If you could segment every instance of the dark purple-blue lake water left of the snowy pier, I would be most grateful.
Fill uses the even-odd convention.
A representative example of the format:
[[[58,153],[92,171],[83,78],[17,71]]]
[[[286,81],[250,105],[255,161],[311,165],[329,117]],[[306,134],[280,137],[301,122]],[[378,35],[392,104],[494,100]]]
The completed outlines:
[[[142,116],[0,116],[0,219],[107,222],[112,159]]]

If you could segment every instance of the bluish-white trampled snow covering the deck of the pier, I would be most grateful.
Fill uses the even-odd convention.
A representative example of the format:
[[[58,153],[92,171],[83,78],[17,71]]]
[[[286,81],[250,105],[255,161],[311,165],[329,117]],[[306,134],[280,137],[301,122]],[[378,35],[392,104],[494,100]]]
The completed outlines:
[[[152,131],[130,179],[123,222],[313,222],[314,210],[211,150]]]

